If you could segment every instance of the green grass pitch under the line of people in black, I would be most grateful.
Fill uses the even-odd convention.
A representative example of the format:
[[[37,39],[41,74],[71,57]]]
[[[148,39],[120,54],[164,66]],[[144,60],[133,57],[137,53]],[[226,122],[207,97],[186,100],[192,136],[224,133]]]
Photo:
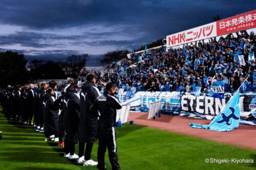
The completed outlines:
[[[63,158],[63,148],[57,142],[44,141],[44,134],[30,126],[14,125],[3,114],[0,131],[0,169],[97,169]],[[215,141],[129,124],[116,128],[116,137],[121,169],[256,169],[256,151]],[[96,142],[92,152],[95,161],[97,148]],[[253,159],[254,163],[206,163],[206,158]],[[107,153],[105,163],[112,169]]]

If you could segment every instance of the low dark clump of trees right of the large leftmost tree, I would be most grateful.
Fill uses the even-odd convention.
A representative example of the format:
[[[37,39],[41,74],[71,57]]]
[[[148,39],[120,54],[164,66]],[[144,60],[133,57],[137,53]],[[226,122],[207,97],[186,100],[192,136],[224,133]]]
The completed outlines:
[[[30,70],[32,79],[66,79],[65,71],[58,62],[33,60],[32,63],[35,64]]]

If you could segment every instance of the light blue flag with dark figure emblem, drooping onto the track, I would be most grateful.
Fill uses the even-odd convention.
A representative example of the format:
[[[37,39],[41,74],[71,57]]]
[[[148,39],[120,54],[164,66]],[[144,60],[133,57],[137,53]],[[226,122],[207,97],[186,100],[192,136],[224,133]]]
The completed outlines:
[[[237,129],[240,122],[239,90],[234,93],[233,98],[227,103],[225,108],[211,121],[209,125],[199,125],[189,123],[192,128],[209,129],[220,132],[227,132]]]

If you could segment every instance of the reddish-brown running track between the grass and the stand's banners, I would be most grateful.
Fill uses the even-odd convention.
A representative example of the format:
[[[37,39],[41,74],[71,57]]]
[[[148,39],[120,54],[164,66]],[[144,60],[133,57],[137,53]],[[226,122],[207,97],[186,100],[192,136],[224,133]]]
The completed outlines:
[[[239,147],[256,150],[256,127],[240,125],[238,129],[230,132],[217,132],[206,129],[195,129],[188,123],[208,125],[211,121],[181,116],[170,116],[162,114],[156,119],[147,120],[147,113],[130,113],[130,119],[134,124],[161,129],[169,132],[195,136],[203,139],[214,140]]]

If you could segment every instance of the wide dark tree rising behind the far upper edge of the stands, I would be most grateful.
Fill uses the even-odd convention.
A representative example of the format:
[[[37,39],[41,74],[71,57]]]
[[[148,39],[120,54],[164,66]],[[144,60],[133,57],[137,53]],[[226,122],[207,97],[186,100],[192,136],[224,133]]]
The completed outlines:
[[[104,54],[104,57],[100,60],[102,64],[110,64],[113,61],[119,61],[127,57],[127,54],[131,53],[129,50],[117,50]]]

